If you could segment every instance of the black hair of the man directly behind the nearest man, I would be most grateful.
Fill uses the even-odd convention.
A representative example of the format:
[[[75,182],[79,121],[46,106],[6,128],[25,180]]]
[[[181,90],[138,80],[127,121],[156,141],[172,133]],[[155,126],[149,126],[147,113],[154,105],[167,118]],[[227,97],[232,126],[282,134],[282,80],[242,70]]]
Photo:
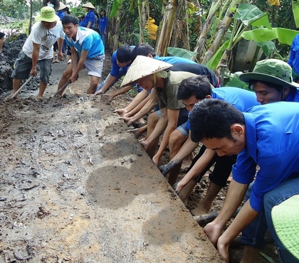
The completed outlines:
[[[187,100],[192,96],[195,96],[197,100],[204,100],[208,95],[212,95],[208,77],[197,75],[182,80],[177,91],[177,100]]]

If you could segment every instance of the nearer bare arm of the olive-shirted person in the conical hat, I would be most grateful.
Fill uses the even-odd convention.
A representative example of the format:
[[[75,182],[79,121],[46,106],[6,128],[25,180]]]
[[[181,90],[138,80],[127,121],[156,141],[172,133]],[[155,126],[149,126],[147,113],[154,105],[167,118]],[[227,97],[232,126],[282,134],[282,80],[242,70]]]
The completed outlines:
[[[166,149],[169,143],[170,134],[172,134],[172,132],[175,129],[177,129],[177,121],[179,119],[179,109],[167,109],[167,119],[168,122],[163,135],[163,139],[161,141],[157,154],[155,154],[154,157],[152,158],[152,161],[154,161],[156,166],[159,165],[159,159],[161,158],[164,150]]]

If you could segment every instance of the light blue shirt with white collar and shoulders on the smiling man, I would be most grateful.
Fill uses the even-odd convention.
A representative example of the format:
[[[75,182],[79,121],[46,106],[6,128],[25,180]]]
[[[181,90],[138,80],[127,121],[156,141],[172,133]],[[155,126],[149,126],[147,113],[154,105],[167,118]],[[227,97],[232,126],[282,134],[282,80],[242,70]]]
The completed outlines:
[[[73,38],[65,38],[69,47],[74,47],[78,54],[81,55],[82,50],[88,51],[87,58],[95,58],[98,55],[105,54],[103,41],[98,32],[90,28],[78,26],[76,40]]]

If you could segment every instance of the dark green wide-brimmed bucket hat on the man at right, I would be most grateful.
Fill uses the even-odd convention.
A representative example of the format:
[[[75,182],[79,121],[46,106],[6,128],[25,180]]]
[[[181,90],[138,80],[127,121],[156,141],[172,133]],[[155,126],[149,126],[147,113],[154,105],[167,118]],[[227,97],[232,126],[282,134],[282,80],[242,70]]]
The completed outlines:
[[[238,77],[243,82],[260,80],[276,85],[299,87],[298,83],[293,82],[290,65],[274,58],[258,61],[251,73],[243,73]]]

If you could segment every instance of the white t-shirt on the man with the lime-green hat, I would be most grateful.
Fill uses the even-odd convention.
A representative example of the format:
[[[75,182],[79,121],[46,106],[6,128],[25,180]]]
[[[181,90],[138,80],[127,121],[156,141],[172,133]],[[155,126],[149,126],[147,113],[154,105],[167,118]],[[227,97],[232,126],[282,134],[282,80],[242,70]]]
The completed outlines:
[[[56,21],[56,26],[51,29],[46,29],[41,24],[41,21],[34,23],[32,30],[26,42],[23,45],[23,53],[32,58],[33,42],[41,45],[39,48],[38,60],[53,58],[53,44],[58,38],[64,39],[63,26],[60,20]]]

